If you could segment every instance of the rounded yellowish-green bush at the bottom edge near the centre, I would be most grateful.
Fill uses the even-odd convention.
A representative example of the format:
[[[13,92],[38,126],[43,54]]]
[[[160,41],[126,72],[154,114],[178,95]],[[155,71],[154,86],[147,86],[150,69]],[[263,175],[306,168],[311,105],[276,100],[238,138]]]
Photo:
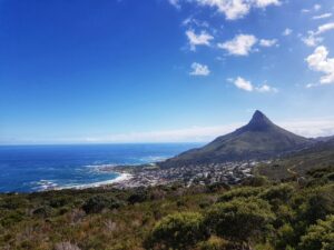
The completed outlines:
[[[156,224],[145,240],[146,249],[193,249],[208,238],[203,216],[195,212],[180,212],[165,217]]]

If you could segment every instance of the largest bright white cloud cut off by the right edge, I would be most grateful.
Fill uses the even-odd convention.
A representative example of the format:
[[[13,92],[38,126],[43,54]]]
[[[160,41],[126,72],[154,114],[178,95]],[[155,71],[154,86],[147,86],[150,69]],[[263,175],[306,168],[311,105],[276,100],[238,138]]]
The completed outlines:
[[[328,58],[328,50],[326,47],[317,47],[314,52],[306,59],[308,68],[324,73],[320,80],[320,84],[333,84],[334,83],[334,58]],[[307,84],[307,88],[314,87],[314,84]]]

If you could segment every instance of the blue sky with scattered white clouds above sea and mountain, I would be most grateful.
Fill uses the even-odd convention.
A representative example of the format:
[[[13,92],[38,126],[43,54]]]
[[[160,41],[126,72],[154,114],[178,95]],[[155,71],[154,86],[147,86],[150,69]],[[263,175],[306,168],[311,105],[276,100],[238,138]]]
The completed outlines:
[[[334,134],[330,0],[0,0],[0,144]]]

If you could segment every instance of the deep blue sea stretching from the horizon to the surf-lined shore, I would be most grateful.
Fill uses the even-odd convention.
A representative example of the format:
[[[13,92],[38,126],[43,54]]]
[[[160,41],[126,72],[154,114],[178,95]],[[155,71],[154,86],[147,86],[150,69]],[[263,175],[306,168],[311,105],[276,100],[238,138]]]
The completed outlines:
[[[0,146],[0,192],[91,187],[119,177],[99,171],[114,164],[164,160],[196,143]]]

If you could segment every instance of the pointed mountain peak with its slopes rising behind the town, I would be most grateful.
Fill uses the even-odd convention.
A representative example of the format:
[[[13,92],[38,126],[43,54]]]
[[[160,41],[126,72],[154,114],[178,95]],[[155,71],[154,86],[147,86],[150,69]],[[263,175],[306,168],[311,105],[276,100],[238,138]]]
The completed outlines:
[[[248,124],[226,136],[218,137],[207,146],[186,151],[161,162],[161,167],[194,163],[266,158],[310,143],[311,140],[274,124],[261,111],[256,111]]]

